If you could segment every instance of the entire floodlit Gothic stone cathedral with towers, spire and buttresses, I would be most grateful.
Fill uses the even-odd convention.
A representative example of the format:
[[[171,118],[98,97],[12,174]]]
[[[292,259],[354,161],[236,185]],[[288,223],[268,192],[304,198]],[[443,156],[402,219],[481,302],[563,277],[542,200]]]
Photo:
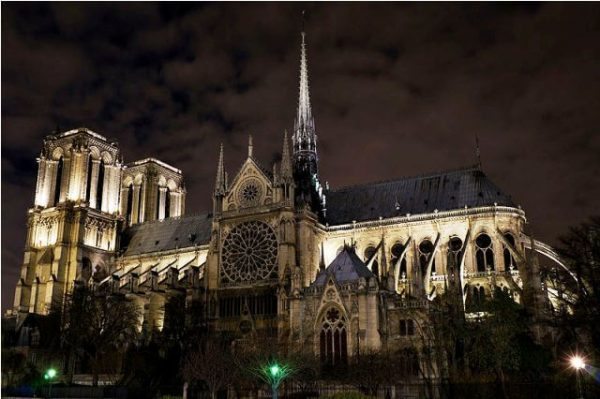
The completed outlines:
[[[172,296],[202,303],[211,331],[277,337],[330,363],[425,342],[429,307],[452,295],[465,317],[504,290],[549,306],[526,216],[480,165],[333,188],[319,177],[305,36],[294,129],[281,161],[253,153],[230,178],[220,148],[213,207],[186,216],[183,171],[123,162],[87,128],[44,140],[11,313],[47,314],[77,284],[139,306],[161,330]],[[217,150],[217,149],[215,149]],[[564,267],[564,265],[563,265]]]

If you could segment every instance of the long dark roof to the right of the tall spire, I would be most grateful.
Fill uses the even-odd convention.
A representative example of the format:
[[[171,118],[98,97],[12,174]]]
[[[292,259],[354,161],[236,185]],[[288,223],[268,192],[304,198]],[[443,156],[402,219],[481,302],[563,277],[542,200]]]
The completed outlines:
[[[376,220],[434,210],[494,205],[515,207],[478,168],[470,167],[426,176],[344,187],[327,192],[330,225]]]

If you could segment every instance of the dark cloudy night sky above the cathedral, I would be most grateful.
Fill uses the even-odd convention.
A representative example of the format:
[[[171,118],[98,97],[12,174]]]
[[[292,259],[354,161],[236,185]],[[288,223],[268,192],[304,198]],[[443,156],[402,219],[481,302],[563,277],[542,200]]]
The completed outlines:
[[[474,164],[551,244],[598,213],[598,4],[2,4],[2,310],[12,306],[42,139],[85,126],[183,170],[209,210],[248,134],[278,159],[301,11],[323,181]]]

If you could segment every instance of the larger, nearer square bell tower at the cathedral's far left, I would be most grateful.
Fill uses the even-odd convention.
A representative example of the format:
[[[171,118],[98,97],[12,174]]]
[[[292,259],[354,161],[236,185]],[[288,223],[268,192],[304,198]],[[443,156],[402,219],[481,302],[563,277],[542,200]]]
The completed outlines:
[[[86,128],[47,136],[38,162],[33,207],[14,310],[47,314],[74,282],[109,272],[117,247],[120,150]]]

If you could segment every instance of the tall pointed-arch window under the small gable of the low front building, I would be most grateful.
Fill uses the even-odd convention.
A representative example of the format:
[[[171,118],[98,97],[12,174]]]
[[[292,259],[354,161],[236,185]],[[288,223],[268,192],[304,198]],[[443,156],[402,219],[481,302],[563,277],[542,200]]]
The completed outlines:
[[[347,335],[346,318],[337,308],[329,308],[321,323],[320,352],[323,363],[333,366],[348,362]]]

